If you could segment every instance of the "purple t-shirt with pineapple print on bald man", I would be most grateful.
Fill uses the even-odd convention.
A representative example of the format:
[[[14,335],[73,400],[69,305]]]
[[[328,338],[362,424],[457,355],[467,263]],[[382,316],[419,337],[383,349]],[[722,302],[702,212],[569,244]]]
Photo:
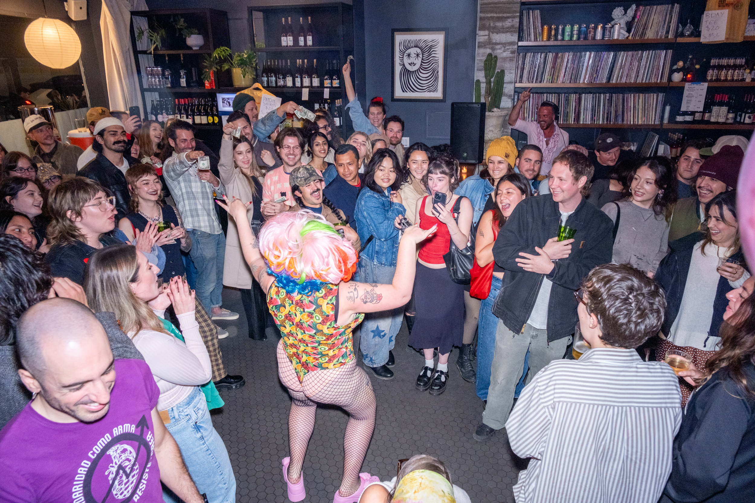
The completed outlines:
[[[31,403],[0,431],[0,500],[162,501],[152,409],[160,390],[142,360],[116,360],[110,408],[94,423],[57,423]]]

